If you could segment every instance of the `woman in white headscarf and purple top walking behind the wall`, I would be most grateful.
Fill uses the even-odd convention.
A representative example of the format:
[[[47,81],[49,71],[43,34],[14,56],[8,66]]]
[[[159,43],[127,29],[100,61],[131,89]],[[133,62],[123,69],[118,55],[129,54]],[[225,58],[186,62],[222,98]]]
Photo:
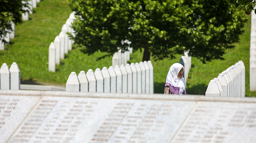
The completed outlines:
[[[164,94],[186,94],[186,84],[182,77],[184,67],[180,63],[174,63],[167,74]]]

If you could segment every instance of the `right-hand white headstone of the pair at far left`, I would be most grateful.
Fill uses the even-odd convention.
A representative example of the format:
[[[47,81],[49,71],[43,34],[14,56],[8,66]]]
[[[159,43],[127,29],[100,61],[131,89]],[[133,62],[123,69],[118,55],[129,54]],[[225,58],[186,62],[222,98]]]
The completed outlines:
[[[20,90],[20,68],[16,62],[13,62],[10,67],[10,89]]]

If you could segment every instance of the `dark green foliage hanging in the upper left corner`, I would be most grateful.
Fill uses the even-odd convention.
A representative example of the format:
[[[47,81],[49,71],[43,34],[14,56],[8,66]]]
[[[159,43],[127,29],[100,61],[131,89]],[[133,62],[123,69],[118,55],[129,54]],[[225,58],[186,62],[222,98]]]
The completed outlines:
[[[0,0],[0,40],[4,41],[6,34],[13,30],[11,22],[22,22],[22,13],[28,12],[22,7],[28,8],[28,0]]]

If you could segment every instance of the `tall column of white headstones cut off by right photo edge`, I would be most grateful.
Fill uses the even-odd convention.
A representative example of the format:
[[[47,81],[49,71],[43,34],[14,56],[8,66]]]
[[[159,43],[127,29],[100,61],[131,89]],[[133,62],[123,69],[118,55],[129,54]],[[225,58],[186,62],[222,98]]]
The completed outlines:
[[[256,91],[256,14],[252,11],[250,34],[250,91]]]

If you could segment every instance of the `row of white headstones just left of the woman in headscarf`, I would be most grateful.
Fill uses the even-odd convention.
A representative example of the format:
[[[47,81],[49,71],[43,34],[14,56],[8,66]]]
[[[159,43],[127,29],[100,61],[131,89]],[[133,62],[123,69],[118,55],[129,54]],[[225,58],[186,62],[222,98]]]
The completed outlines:
[[[151,61],[109,68],[71,72],[66,82],[68,92],[154,93],[154,68]]]

